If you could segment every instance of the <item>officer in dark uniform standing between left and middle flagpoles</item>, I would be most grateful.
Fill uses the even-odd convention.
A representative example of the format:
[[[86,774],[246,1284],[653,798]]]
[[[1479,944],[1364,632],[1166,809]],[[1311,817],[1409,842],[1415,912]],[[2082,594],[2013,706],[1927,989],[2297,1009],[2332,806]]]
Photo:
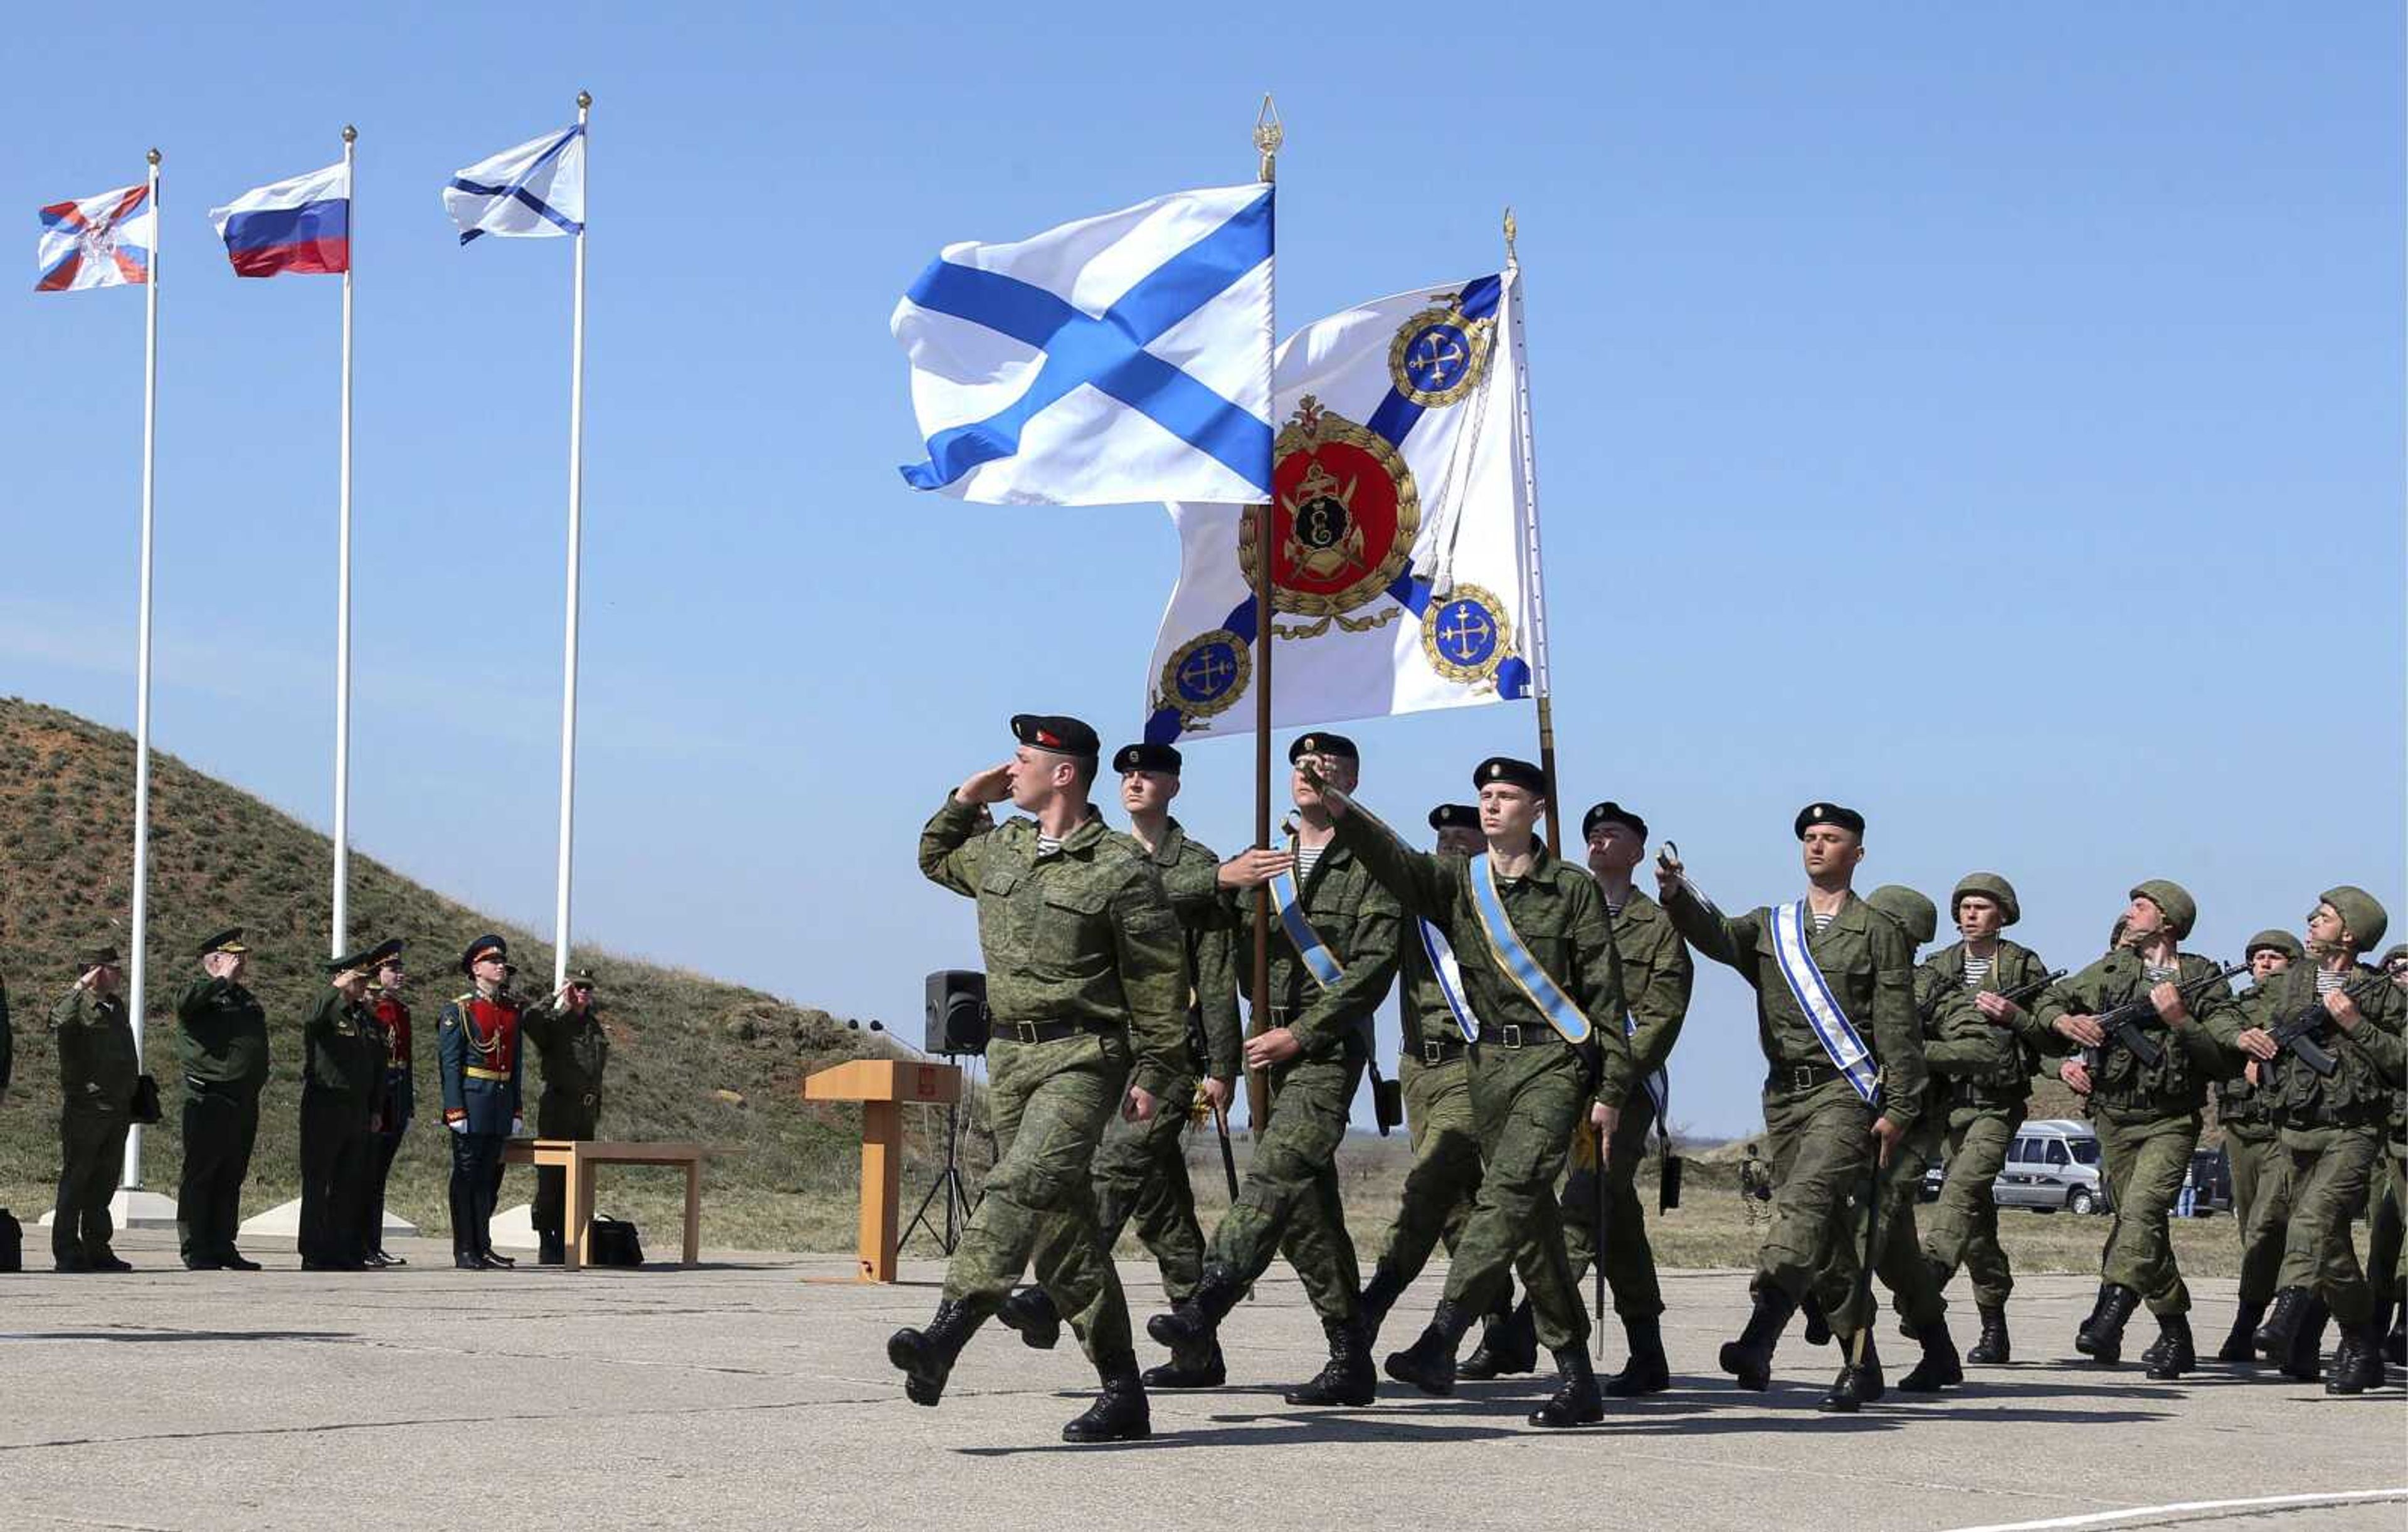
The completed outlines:
[[[193,1272],[258,1272],[234,1248],[243,1214],[243,1178],[260,1137],[260,1086],[267,1084],[267,1012],[243,988],[250,949],[243,927],[200,944],[202,978],[176,997],[176,1050],[183,1057],[183,1178],[176,1185],[176,1243]]]

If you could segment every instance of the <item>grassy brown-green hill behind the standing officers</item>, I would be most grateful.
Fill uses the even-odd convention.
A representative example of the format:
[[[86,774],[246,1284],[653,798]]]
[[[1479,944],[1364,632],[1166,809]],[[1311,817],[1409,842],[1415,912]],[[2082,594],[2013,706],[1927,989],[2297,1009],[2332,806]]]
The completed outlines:
[[[0,1106],[0,1207],[31,1224],[58,1178],[58,1057],[51,1004],[75,983],[75,951],[128,947],[132,908],[132,737],[72,713],[0,699],[0,976],[17,1033],[17,1074]],[[243,925],[250,985],[267,1007],[275,1060],[258,1156],[243,1212],[299,1195],[301,1017],[318,995],[330,923],[327,836],[212,780],[173,756],[152,761],[152,927],[144,1060],[161,1082],[166,1120],[144,1132],[142,1178],[173,1195],[178,1139],[176,992],[200,973],[193,947]],[[417,1021],[419,1123],[393,1166],[393,1207],[429,1233],[448,1228],[450,1168],[433,1074],[436,1009],[467,980],[453,968],[484,930],[510,939],[527,976],[551,973],[551,947],[506,920],[470,911],[354,850],[352,930],[361,939],[412,942],[409,1007]],[[698,1139],[727,1156],[706,1173],[703,1238],[730,1248],[852,1245],[857,1113],[807,1106],[802,1077],[867,1050],[867,1031],[761,990],[681,968],[578,949],[600,985],[612,1033],[602,1132],[628,1139]],[[532,1120],[539,1065],[527,1065]],[[942,1149],[934,1113],[908,1113],[910,1149]],[[915,1171],[908,1185],[925,1173]],[[532,1195],[513,1171],[503,1202]],[[604,1171],[602,1204],[636,1216],[655,1243],[672,1238],[674,1173]],[[34,1238],[29,1260],[48,1260]]]

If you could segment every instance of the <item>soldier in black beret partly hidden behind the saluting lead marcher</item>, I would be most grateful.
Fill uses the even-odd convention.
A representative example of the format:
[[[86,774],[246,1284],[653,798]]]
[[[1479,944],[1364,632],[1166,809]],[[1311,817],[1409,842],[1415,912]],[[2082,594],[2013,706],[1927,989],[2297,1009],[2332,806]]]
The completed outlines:
[[[1228,923],[1221,911],[1221,858],[1187,836],[1170,817],[1180,795],[1180,752],[1170,744],[1122,744],[1112,754],[1120,773],[1120,807],[1129,812],[1129,838],[1153,862],[1163,894],[1180,918],[1187,949],[1190,1007],[1185,1070],[1163,1084],[1163,1110],[1144,1123],[1115,1115],[1105,1123],[1096,1149],[1096,1238],[1110,1250],[1120,1231],[1137,1219],[1137,1238],[1153,1253],[1163,1274],[1163,1296],[1180,1303],[1204,1279],[1204,1228],[1197,1224],[1197,1195],[1187,1180],[1187,1154],[1180,1130],[1187,1125],[1182,1103],[1202,1098],[1206,1110],[1226,1123],[1238,1084],[1238,964]],[[1021,1332],[1031,1347],[1052,1347],[1062,1315],[1043,1286],[1011,1294],[997,1315]],[[1146,1368],[1146,1387],[1218,1387],[1228,1380],[1221,1344]]]

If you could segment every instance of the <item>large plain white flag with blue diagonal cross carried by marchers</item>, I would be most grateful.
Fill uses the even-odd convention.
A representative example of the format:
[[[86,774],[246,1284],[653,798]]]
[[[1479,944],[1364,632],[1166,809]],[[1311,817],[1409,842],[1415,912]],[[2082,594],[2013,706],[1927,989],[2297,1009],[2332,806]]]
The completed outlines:
[[[1271,188],[1139,202],[958,243],[896,304],[927,458],[992,506],[1262,496],[1271,482]]]

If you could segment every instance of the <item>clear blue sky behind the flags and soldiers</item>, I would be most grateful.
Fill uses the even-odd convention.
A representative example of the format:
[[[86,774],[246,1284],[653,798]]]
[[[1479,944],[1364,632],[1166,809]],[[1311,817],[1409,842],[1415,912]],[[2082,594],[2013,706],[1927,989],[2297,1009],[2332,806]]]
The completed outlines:
[[[17,26],[26,243],[166,152],[161,749],[330,824],[337,284],[236,282],[205,210],[349,120],[356,843],[549,927],[568,246],[436,190],[592,89],[578,935],[915,1021],[975,964],[922,817],[1014,711],[1134,735],[1178,547],[908,491],[889,311],[949,241],[1245,181],[1276,89],[1281,328],[1519,212],[1575,809],[1748,906],[1837,797],[1869,882],[2003,870],[2056,964],[2141,877],[2215,954],[2333,882],[2408,927],[2396,5],[802,10]],[[142,301],[22,272],[0,691],[130,727]],[[1534,723],[1351,732],[1418,821]],[[1190,754],[1223,850],[1247,771]],[[1758,1079],[1710,976],[1676,1118]]]

